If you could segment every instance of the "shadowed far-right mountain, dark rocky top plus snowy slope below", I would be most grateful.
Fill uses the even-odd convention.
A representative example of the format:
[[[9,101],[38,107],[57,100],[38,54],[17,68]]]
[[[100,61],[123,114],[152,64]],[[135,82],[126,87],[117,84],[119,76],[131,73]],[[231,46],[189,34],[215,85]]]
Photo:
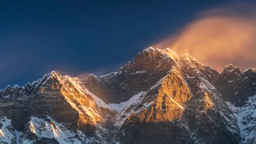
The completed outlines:
[[[216,88],[237,118],[242,143],[256,143],[255,83],[254,68],[248,68],[242,73],[231,64],[224,68],[216,82]]]

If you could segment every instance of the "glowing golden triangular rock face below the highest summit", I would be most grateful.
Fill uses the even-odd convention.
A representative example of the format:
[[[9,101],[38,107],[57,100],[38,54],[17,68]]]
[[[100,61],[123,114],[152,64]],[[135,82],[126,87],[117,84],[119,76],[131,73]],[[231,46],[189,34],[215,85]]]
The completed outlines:
[[[192,97],[184,80],[175,70],[171,70],[170,74],[163,78],[158,91],[152,106],[139,113],[140,122],[165,122],[179,119],[183,114],[184,103]]]

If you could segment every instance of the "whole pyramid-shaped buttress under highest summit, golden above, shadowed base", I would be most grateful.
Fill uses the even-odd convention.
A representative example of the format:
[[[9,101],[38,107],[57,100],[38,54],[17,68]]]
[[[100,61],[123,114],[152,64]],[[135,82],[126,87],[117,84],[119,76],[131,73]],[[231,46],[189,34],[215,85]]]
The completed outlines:
[[[115,141],[240,143],[236,118],[211,84],[218,73],[188,55],[171,56],[175,68],[144,95],[142,103],[121,125]],[[144,101],[150,106],[140,110]]]

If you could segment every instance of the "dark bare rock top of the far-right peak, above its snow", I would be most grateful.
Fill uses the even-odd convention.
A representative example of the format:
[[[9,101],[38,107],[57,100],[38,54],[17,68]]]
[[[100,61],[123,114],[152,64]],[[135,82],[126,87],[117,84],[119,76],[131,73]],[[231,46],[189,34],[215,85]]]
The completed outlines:
[[[224,68],[215,85],[225,101],[244,106],[248,98],[256,94],[255,83],[254,68],[248,68],[242,73],[238,67],[230,64]]]

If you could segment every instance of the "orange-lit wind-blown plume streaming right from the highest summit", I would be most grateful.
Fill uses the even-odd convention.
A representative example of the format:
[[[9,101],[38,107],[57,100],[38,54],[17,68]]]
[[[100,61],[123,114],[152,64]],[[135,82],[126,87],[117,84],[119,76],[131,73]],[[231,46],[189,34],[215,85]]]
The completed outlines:
[[[219,72],[233,63],[256,66],[256,4],[231,4],[205,10],[181,31],[154,44],[189,53]]]

